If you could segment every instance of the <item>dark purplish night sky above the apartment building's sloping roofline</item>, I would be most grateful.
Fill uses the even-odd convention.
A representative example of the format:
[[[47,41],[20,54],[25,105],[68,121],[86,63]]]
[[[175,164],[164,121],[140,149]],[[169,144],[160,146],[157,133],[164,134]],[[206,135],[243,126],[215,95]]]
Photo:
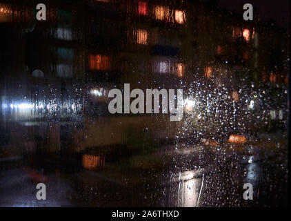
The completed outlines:
[[[209,0],[201,0],[209,1]],[[254,17],[260,17],[262,21],[274,20],[275,24],[282,28],[288,28],[290,21],[289,0],[217,0],[219,8],[231,10],[243,15],[243,4],[251,3],[254,8]],[[256,14],[257,13],[257,14]]]

